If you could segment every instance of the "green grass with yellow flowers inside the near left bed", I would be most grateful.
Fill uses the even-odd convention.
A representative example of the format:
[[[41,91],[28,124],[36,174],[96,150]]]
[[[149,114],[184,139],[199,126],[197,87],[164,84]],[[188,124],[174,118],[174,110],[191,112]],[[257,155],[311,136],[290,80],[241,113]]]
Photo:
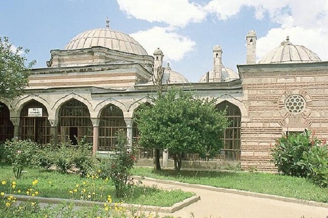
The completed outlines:
[[[26,168],[20,179],[16,179],[11,170],[10,165],[0,164],[0,182],[5,180],[6,185],[1,185],[0,192],[9,193],[9,186],[12,181],[16,181],[17,187],[15,190],[21,190],[21,195],[26,195],[27,189],[34,187],[32,181],[38,180],[35,190],[39,192],[38,196],[43,197],[58,197],[71,198],[70,190],[77,189],[76,198],[79,198],[80,192],[83,190],[83,182],[94,184],[95,188],[86,187],[86,193],[95,192],[98,199],[104,201],[107,195],[110,195],[113,202],[120,202],[120,198],[115,197],[115,188],[110,180],[91,179],[80,177],[76,174],[63,174],[55,171],[46,171],[40,169]],[[76,188],[76,184],[80,187]],[[102,187],[102,191],[100,189]],[[13,194],[13,192],[10,192]],[[100,196],[102,193],[102,197]],[[15,193],[17,194],[17,193]],[[123,199],[124,203],[143,204],[153,206],[172,206],[188,197],[194,196],[191,192],[183,192],[181,190],[166,191],[155,187],[136,186],[133,195]]]

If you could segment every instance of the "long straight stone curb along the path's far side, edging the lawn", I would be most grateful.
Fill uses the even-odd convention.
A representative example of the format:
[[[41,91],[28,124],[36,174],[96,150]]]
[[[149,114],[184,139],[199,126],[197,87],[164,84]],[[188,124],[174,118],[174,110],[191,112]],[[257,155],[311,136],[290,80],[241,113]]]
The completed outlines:
[[[177,182],[177,181],[172,181],[172,180],[155,179],[155,178],[150,178],[150,177],[141,177],[141,176],[134,176],[134,177],[139,178],[139,179],[142,178],[144,180],[148,180],[148,181],[152,181],[152,182],[163,183],[163,184],[180,185],[183,187],[206,189],[206,190],[214,191],[214,192],[223,192],[223,193],[237,194],[237,195],[242,195],[242,196],[268,198],[268,199],[280,200],[280,201],[284,201],[284,202],[299,203],[299,204],[306,204],[309,206],[328,208],[328,203],[316,202],[316,201],[312,201],[312,200],[303,200],[303,199],[296,199],[296,198],[292,198],[292,197],[261,194],[261,193],[255,193],[255,192],[243,191],[243,190],[237,190],[237,189],[217,188],[217,187],[208,186],[208,185],[189,184],[189,183]]]

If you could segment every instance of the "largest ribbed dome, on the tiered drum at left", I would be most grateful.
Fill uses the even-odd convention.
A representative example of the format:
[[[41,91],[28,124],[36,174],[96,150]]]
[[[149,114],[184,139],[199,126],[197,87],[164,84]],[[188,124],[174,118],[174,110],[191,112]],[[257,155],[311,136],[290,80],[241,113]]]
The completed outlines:
[[[126,53],[148,55],[146,50],[129,35],[109,28],[91,29],[78,34],[65,46],[65,50],[91,48],[95,46],[123,51]]]

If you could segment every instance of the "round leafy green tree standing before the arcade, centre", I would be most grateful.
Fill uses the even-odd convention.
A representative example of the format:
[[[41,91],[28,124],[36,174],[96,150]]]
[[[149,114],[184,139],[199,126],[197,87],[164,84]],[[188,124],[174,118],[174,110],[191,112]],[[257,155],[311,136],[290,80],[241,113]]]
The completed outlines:
[[[226,111],[218,111],[214,100],[193,97],[190,92],[170,89],[152,107],[137,111],[139,145],[168,149],[177,171],[182,153],[212,157],[223,147]]]

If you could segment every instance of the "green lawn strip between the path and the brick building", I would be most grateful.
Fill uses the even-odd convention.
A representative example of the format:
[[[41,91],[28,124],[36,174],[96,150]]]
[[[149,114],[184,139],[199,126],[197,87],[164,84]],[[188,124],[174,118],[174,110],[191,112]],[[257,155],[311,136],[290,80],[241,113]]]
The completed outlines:
[[[156,172],[150,168],[135,168],[133,174],[328,203],[328,188],[320,188],[305,178],[280,174],[181,171],[177,175],[174,170]]]

